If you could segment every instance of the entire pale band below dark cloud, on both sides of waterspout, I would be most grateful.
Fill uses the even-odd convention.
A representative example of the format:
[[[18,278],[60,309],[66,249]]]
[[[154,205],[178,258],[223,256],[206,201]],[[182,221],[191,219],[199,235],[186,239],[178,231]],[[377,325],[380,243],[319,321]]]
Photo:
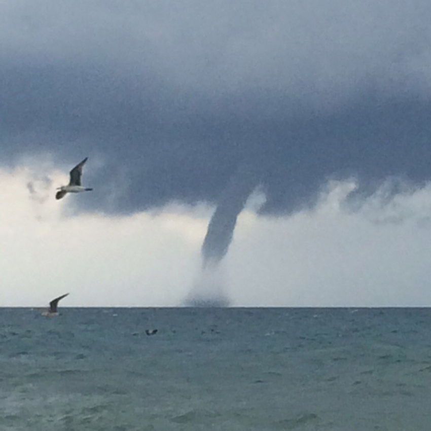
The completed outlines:
[[[43,306],[66,292],[64,306],[182,304],[211,208],[69,217],[91,195],[55,201],[67,176],[47,172],[0,170],[0,306]],[[254,199],[222,262],[232,305],[430,306],[431,184],[393,196],[382,187],[353,210],[355,187],[330,182],[315,208],[289,217],[258,217]]]

